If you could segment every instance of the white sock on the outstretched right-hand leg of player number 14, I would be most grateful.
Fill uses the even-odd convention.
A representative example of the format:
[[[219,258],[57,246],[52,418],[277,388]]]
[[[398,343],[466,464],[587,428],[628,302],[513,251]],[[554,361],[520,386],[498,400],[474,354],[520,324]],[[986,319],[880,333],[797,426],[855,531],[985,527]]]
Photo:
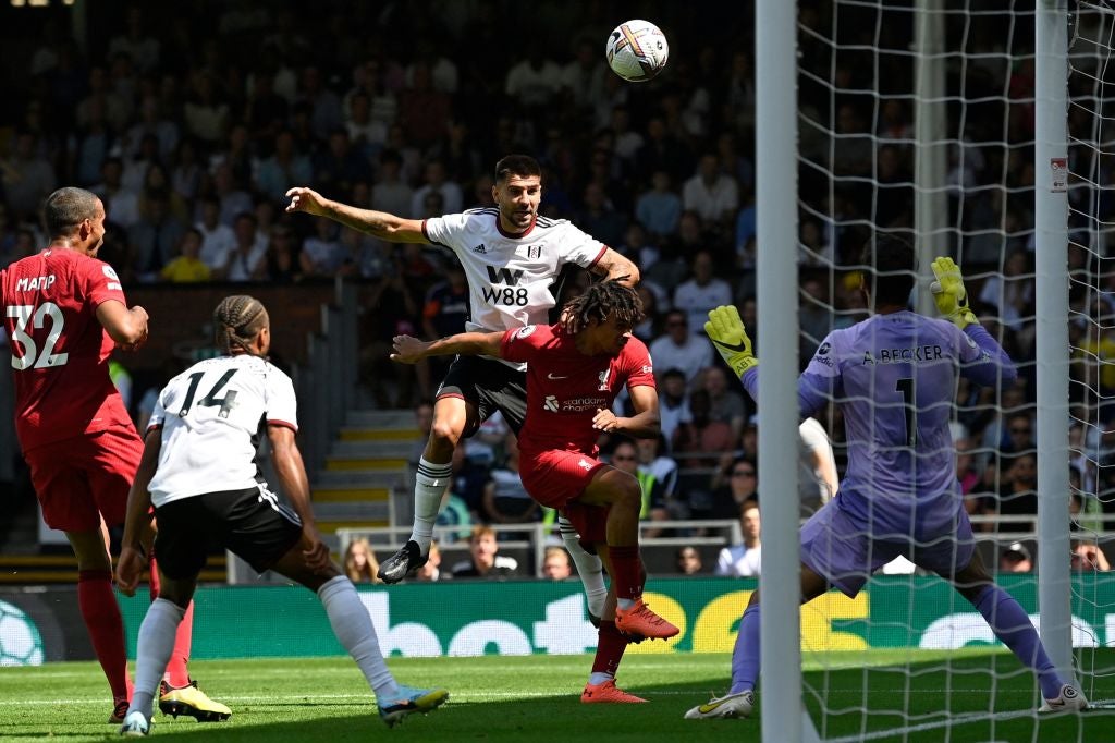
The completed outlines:
[[[331,578],[318,589],[318,598],[329,615],[333,635],[356,660],[371,691],[376,693],[376,698],[386,701],[397,696],[399,685],[387,669],[384,655],[379,652],[376,628],[371,625],[368,609],[360,602],[360,595],[356,592],[352,581],[345,576]]]

